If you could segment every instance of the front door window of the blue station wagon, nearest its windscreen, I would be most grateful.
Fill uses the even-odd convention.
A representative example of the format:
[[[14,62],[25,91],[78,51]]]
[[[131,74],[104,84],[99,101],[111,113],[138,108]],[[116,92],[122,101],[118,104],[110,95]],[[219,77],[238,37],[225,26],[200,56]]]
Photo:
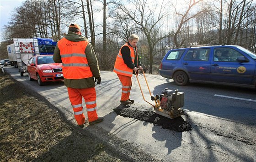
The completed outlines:
[[[214,49],[214,61],[237,62],[236,59],[243,56],[232,48],[216,48]]]

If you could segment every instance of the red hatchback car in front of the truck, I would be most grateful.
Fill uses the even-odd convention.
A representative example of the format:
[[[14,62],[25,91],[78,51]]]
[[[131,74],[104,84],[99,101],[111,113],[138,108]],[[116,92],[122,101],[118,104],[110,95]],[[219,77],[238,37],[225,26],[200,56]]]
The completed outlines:
[[[55,63],[53,55],[32,56],[27,64],[27,73],[29,80],[37,80],[39,86],[45,82],[64,80],[61,63]]]

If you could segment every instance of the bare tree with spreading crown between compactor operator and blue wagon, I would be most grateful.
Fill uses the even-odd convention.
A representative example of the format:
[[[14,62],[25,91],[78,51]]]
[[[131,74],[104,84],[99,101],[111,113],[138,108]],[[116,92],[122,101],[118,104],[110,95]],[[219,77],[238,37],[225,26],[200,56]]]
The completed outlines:
[[[158,5],[158,2],[149,4],[147,0],[128,0],[126,5],[119,5],[119,9],[123,12],[126,18],[132,20],[145,35],[149,47],[149,54],[144,54],[143,56],[149,60],[149,73],[152,73],[155,45],[160,40],[172,35],[172,33],[167,33],[160,36],[160,27],[163,25],[163,21],[161,20],[167,16],[167,13],[165,12],[165,6],[167,5],[164,4],[164,1],[162,1],[160,6]],[[150,6],[154,7],[152,8]],[[121,12],[119,13],[120,15]]]

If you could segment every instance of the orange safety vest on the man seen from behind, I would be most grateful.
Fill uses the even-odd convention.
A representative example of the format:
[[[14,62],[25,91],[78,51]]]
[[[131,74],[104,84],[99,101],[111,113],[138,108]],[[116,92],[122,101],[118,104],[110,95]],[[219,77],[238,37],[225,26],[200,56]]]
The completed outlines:
[[[93,76],[85,55],[87,45],[88,41],[74,42],[66,38],[58,41],[64,78],[84,79]]]

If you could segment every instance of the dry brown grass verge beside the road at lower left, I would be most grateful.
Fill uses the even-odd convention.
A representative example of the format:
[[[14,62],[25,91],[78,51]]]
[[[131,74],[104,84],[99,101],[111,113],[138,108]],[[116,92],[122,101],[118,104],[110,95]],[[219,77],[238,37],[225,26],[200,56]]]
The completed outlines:
[[[0,95],[1,162],[124,161],[1,70]]]

